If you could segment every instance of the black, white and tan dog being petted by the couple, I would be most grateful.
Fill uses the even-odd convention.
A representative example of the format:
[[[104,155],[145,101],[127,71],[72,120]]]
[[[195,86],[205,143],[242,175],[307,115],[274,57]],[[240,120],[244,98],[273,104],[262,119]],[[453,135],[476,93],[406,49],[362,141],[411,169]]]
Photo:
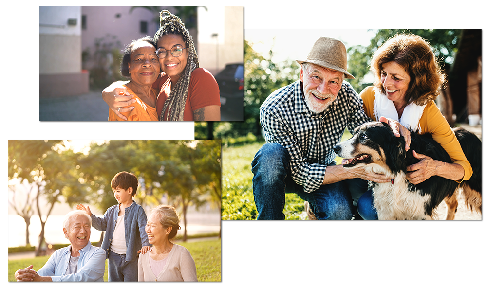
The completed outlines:
[[[382,122],[370,122],[359,126],[354,136],[336,146],[338,156],[348,159],[344,168],[366,166],[373,172],[394,177],[391,183],[370,182],[373,203],[380,220],[436,219],[435,209],[446,199],[447,219],[454,219],[457,193],[463,192],[471,210],[481,213],[481,140],[464,129],[455,134],[473,168],[473,175],[461,184],[440,176],[431,176],[417,185],[405,177],[407,166],[419,162],[411,151],[433,159],[451,163],[449,155],[428,134],[411,132],[411,143],[405,152],[405,139],[396,137],[391,128]]]

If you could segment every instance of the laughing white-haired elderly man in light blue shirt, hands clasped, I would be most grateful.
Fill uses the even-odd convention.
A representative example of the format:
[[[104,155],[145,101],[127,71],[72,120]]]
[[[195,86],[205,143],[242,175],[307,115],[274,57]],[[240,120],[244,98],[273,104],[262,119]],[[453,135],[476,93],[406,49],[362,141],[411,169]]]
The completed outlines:
[[[105,252],[90,243],[91,218],[74,210],[64,217],[63,232],[71,245],[56,250],[37,272],[30,265],[15,272],[17,281],[103,281]]]

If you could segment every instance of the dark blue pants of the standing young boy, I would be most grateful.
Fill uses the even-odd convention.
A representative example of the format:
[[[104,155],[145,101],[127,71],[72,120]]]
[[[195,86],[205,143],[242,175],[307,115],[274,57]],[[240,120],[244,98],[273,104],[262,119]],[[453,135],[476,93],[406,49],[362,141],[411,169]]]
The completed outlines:
[[[117,254],[108,251],[108,281],[138,281],[137,261],[139,256],[134,260],[125,261],[125,254]]]

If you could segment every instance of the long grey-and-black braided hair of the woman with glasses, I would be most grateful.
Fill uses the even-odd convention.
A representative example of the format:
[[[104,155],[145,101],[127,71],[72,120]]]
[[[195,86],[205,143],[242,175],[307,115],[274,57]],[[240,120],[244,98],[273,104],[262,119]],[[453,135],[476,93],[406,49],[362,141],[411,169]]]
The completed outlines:
[[[183,41],[188,49],[188,60],[182,76],[171,89],[169,97],[164,101],[163,111],[159,120],[182,121],[184,106],[188,96],[188,87],[190,86],[190,76],[196,68],[200,67],[200,64],[198,62],[197,51],[193,45],[193,38],[190,32],[188,32],[188,29],[185,28],[182,20],[178,16],[171,14],[168,10],[163,10],[160,13],[160,28],[156,32],[156,35],[154,35],[154,42],[158,43],[159,39],[168,34],[181,35],[183,37]],[[166,109],[168,109],[168,113],[166,118],[164,118]]]

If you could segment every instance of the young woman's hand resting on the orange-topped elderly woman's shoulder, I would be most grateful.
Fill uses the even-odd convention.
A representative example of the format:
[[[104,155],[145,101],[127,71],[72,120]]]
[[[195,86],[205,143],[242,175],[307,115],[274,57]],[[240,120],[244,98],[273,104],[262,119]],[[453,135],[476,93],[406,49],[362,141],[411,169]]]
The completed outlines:
[[[122,113],[132,111],[134,107],[127,106],[136,102],[134,96],[123,87],[123,82],[121,81],[112,83],[110,86],[103,89],[102,98],[107,103],[110,110],[124,120],[127,120],[127,117],[122,115]]]

